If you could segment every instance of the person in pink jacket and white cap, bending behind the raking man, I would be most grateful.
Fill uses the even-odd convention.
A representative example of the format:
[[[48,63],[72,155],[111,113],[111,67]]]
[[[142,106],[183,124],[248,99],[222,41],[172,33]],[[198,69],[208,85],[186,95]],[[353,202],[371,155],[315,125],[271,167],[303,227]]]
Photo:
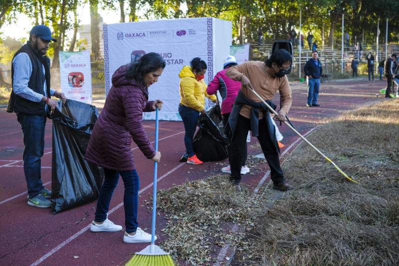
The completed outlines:
[[[237,65],[237,61],[235,60],[234,56],[229,55],[224,58],[223,70],[220,70],[216,73],[213,80],[206,88],[206,93],[209,95],[215,94],[216,91],[219,91],[221,95],[221,114],[223,117],[223,126],[226,126],[228,122],[228,117],[230,116],[235,97],[237,97],[238,91],[241,87],[240,81],[232,80],[226,75],[227,69],[233,65]],[[227,152],[230,154],[229,147],[227,148]],[[247,157],[246,154],[247,150],[245,151],[244,162],[242,163],[243,167],[241,168],[241,175],[249,173],[249,168],[245,165]],[[221,171],[223,173],[231,173],[230,165],[223,167]]]

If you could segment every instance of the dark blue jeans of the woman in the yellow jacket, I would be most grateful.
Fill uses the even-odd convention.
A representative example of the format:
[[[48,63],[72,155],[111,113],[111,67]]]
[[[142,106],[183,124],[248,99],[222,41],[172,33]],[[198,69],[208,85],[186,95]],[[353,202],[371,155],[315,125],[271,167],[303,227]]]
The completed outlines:
[[[192,157],[194,155],[193,138],[194,133],[196,133],[197,120],[200,116],[200,112],[192,108],[186,107],[183,104],[179,104],[179,114],[183,119],[184,129],[186,131],[184,135],[186,152],[189,157]]]

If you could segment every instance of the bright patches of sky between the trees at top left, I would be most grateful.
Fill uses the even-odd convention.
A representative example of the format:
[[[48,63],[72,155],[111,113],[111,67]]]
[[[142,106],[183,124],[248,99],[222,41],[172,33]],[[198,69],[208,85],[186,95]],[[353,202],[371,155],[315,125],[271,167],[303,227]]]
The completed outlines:
[[[78,15],[80,18],[80,24],[90,24],[90,9],[89,4],[86,3],[81,7],[78,7]],[[119,5],[116,10],[101,10],[99,8],[99,13],[103,17],[105,23],[117,23],[120,19]],[[127,15],[127,13],[126,13]],[[16,22],[18,21],[18,22]],[[34,21],[27,17],[25,14],[17,14],[14,22],[10,24],[4,24],[1,27],[1,31],[4,36],[13,37],[16,39],[27,38],[29,36],[29,31],[32,28]],[[72,32],[69,32],[72,34]]]

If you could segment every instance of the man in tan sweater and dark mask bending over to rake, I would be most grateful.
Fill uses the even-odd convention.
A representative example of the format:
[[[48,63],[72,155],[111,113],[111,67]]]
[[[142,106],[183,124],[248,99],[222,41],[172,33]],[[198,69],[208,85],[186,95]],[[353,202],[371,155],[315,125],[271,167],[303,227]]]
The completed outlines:
[[[241,89],[235,98],[231,110],[227,130],[231,138],[230,154],[228,157],[231,175],[230,181],[235,189],[240,191],[241,166],[245,155],[248,130],[256,136],[263,154],[270,167],[273,188],[286,191],[292,189],[284,179],[278,157],[278,144],[274,126],[271,123],[270,112],[260,99],[250,90],[256,91],[264,100],[271,100],[279,90],[282,97],[282,106],[277,119],[286,120],[291,104],[291,88],[286,74],[291,71],[292,56],[283,49],[275,51],[269,59],[262,61],[246,61],[227,69],[226,75],[241,82]],[[272,104],[270,102],[270,104]]]

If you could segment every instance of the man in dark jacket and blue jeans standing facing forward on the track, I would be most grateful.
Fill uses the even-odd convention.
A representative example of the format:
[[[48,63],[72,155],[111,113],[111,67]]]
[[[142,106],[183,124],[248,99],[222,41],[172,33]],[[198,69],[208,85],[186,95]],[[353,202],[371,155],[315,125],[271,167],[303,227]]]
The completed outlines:
[[[323,74],[323,67],[318,59],[319,53],[317,51],[312,52],[312,58],[309,59],[303,67],[305,76],[308,77],[308,102],[307,107],[320,106],[317,103],[317,97],[319,95],[320,88],[320,77]]]

